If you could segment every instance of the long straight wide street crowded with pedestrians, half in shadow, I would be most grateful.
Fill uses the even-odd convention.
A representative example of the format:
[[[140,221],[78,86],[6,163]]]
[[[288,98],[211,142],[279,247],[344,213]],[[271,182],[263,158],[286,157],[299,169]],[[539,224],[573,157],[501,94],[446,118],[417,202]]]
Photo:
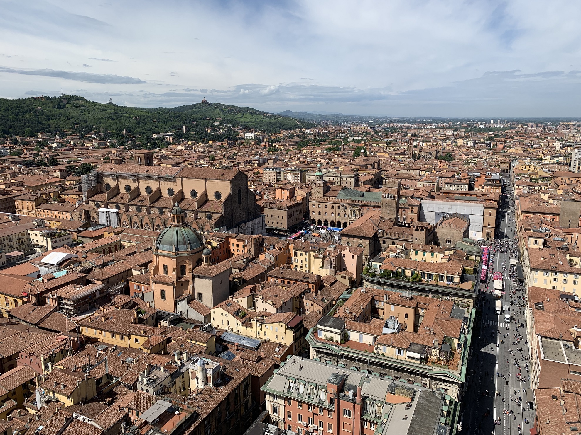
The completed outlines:
[[[510,182],[508,177],[503,184],[507,182]],[[490,243],[494,267],[487,274],[487,281],[480,285],[481,317],[474,328],[472,358],[468,364],[463,433],[467,430],[470,434],[517,435],[528,434],[533,427],[534,414],[528,408],[525,392],[525,387],[530,387],[529,372],[525,368],[529,363],[529,351],[525,344],[527,334],[522,307],[526,290],[519,287],[516,267],[510,265],[511,259],[518,260],[513,198],[511,189],[506,187],[501,197],[496,240]],[[495,312],[497,298],[490,293],[493,271],[503,273],[502,303],[510,307],[510,322],[505,322],[504,311],[500,315]],[[522,335],[518,343],[515,334]]]

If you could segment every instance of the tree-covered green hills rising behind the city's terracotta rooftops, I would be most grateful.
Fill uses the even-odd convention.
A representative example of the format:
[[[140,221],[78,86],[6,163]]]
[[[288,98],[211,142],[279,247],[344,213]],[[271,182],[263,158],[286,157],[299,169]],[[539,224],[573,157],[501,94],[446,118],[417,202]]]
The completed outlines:
[[[163,145],[163,140],[153,140],[153,133],[175,132],[174,137],[180,140],[233,140],[238,135],[236,127],[276,133],[281,129],[309,126],[313,124],[230,104],[139,108],[95,103],[76,95],[44,97],[44,100],[0,99],[3,136],[32,136],[40,132],[85,135],[99,131],[121,144],[134,136],[137,139],[132,140],[132,146],[156,147]]]

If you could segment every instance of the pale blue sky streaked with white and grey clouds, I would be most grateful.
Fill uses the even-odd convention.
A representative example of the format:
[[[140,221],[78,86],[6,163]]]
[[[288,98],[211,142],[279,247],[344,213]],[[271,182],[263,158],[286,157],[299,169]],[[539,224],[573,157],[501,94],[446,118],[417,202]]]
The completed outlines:
[[[581,2],[0,0],[0,97],[581,117]]]

